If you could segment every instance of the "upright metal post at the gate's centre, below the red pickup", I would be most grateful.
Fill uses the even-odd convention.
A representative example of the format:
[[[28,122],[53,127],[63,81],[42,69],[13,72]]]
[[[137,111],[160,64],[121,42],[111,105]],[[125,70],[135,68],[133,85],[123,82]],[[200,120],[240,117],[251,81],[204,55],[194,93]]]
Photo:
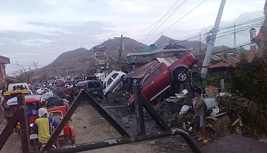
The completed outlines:
[[[134,107],[136,115],[136,125],[137,125],[137,135],[145,135],[145,121],[144,121],[144,111],[142,102],[141,85],[134,84]]]

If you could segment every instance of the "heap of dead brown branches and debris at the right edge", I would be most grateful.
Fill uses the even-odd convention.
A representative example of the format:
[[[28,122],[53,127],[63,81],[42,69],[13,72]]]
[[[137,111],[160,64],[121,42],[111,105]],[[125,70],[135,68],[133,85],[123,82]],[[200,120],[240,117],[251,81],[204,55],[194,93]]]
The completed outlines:
[[[220,110],[229,115],[234,133],[257,137],[256,129],[264,129],[266,126],[263,108],[242,95],[225,95],[217,101]]]

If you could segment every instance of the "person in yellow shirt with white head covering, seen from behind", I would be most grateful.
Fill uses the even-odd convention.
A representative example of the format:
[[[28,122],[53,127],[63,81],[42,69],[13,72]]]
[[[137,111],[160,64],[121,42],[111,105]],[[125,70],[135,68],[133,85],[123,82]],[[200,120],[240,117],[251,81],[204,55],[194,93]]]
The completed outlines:
[[[48,114],[48,111],[45,108],[40,108],[38,110],[39,118],[35,120],[35,124],[33,125],[33,130],[36,132],[38,131],[38,140],[39,145],[43,142],[47,142],[50,136],[53,133],[53,128],[58,125],[58,122],[51,118]],[[56,141],[56,147],[59,147],[58,141]],[[38,149],[41,146],[38,146]]]

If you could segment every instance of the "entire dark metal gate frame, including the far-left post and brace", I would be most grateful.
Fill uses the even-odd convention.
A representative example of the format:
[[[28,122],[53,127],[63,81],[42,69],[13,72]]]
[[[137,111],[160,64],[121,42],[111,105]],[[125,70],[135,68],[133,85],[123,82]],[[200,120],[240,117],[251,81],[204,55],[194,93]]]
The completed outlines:
[[[99,149],[104,147],[116,146],[121,144],[145,141],[149,139],[165,137],[165,136],[173,136],[180,135],[182,136],[189,147],[192,149],[194,153],[201,153],[200,148],[196,145],[191,136],[181,130],[181,129],[170,129],[166,122],[158,115],[158,113],[153,109],[150,103],[144,98],[141,94],[141,85],[134,85],[134,96],[135,96],[135,114],[136,114],[136,123],[137,123],[137,135],[130,136],[118,123],[115,119],[113,119],[101,106],[98,102],[96,102],[85,90],[81,90],[77,98],[68,108],[65,117],[60,121],[59,125],[53,132],[52,136],[48,140],[47,144],[39,153],[77,153],[82,151],[88,151],[93,149]],[[25,98],[23,95],[17,96],[18,106],[15,110],[13,116],[7,123],[6,127],[0,134],[0,150],[2,149],[4,143],[6,142],[8,136],[11,134],[12,130],[16,126],[17,120],[20,122],[21,127],[21,143],[22,143],[22,151],[23,153],[30,153],[29,150],[29,132],[27,130],[27,117],[26,117],[26,105]],[[77,109],[81,102],[90,103],[96,111],[100,113],[100,115],[106,119],[122,136],[114,139],[106,139],[95,142],[87,142],[83,144],[75,144],[64,146],[60,148],[50,149],[53,142],[56,141],[57,136],[59,136],[60,132],[63,130],[67,121],[70,119],[74,111]],[[144,123],[144,115],[143,115],[143,107],[148,111],[152,119],[159,125],[162,131],[146,133],[145,131],[145,123]],[[36,152],[35,152],[36,153]]]

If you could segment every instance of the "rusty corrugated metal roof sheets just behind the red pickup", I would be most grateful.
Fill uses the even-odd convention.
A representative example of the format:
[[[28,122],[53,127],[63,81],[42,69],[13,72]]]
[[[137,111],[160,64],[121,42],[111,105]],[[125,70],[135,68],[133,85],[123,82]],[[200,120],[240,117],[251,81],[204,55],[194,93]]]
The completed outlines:
[[[139,68],[134,69],[134,71],[131,71],[131,74],[127,74],[126,78],[138,78],[141,79],[144,77],[145,74],[147,74],[152,68],[155,68],[158,64],[161,62],[164,62],[167,64],[167,66],[170,66],[178,59],[176,57],[162,57],[157,58],[157,60],[154,60],[146,65],[143,65]]]

